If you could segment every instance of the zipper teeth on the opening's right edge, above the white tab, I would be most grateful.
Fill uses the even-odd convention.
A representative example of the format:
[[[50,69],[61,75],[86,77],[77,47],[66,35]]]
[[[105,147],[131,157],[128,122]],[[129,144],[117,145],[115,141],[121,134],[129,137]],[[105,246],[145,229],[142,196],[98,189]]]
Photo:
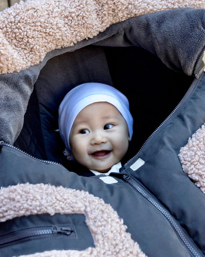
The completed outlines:
[[[205,48],[204,48],[205,49]],[[194,81],[192,82],[191,86],[189,87],[189,89],[187,90],[187,93],[184,95],[184,97],[182,98],[182,100],[180,101],[180,103],[175,107],[175,109],[170,113],[170,115],[159,125],[159,127],[147,138],[147,140],[143,143],[143,145],[141,146],[139,152],[132,157],[128,162],[126,162],[124,164],[124,167],[127,166],[128,163],[131,163],[132,160],[134,160],[142,151],[142,149],[144,148],[144,146],[147,144],[147,142],[151,139],[151,137],[153,137],[153,135],[170,119],[170,117],[177,111],[177,109],[180,107],[180,105],[182,105],[182,103],[184,102],[185,98],[187,97],[187,95],[189,95],[190,91],[193,88],[193,85],[195,84],[195,82],[197,81],[197,78],[194,78]]]

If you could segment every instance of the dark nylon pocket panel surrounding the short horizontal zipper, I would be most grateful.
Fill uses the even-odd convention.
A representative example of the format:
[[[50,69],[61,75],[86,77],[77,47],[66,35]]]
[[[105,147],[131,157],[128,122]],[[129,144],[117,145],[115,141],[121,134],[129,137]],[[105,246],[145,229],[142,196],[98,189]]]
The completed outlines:
[[[1,235],[16,231],[22,233],[21,229],[33,228],[43,229],[43,226],[72,226],[74,232],[70,236],[64,234],[39,235],[21,239],[18,242],[7,243],[0,246],[0,256],[11,257],[27,255],[36,252],[50,250],[85,250],[88,247],[95,247],[89,228],[86,225],[86,217],[83,214],[61,215],[37,214],[17,217],[0,223]],[[24,230],[26,233],[26,231]],[[1,237],[0,237],[1,240]]]

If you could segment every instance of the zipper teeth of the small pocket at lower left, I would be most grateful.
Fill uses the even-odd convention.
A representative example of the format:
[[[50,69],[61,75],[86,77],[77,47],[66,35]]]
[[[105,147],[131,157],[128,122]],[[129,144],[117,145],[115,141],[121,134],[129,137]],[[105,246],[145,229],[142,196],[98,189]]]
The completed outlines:
[[[48,235],[48,234],[54,234],[54,232],[52,232],[51,229],[41,229],[41,230],[36,230],[36,231],[28,231],[28,232],[24,232],[20,235],[11,236],[9,238],[1,239],[0,245],[4,244],[4,243],[10,243],[12,241],[16,241],[16,240],[19,240],[19,239],[23,239],[25,237]]]

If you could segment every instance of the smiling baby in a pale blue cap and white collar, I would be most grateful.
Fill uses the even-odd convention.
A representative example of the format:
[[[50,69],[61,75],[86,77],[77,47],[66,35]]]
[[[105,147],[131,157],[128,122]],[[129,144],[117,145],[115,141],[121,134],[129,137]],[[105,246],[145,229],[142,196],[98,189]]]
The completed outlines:
[[[95,175],[119,172],[132,126],[127,98],[105,84],[78,85],[59,106],[59,132],[67,158]]]

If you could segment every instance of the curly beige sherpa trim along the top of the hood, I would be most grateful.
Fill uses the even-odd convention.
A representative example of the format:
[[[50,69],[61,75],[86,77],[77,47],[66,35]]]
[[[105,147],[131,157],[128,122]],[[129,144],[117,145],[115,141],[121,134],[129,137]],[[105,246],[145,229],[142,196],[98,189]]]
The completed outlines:
[[[27,0],[0,13],[0,73],[40,63],[46,53],[93,38],[111,24],[204,0]]]

